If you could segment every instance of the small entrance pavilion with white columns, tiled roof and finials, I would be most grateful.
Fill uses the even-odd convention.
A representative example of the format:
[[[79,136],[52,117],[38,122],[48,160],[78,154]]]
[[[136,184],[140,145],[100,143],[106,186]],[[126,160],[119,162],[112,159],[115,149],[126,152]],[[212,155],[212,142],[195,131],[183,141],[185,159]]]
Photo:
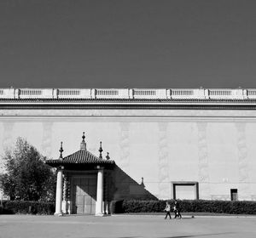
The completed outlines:
[[[46,164],[57,169],[55,198],[55,215],[95,214],[102,216],[109,213],[109,176],[115,162],[102,158],[102,142],[100,155],[95,156],[86,150],[83,133],[80,150],[63,157],[62,142],[60,157],[47,160]]]

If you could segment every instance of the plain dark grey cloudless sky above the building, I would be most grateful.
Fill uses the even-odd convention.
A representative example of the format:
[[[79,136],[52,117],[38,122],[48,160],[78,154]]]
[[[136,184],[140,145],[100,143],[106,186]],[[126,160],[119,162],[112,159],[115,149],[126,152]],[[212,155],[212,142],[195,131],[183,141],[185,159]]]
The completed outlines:
[[[1,0],[10,86],[256,88],[256,1]]]

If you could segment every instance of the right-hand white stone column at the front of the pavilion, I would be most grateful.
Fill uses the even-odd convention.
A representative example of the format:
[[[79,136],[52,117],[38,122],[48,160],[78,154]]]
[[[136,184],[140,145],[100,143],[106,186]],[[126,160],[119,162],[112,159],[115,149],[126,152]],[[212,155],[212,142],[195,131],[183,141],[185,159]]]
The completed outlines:
[[[102,204],[103,204],[103,167],[97,166],[97,201],[96,201],[96,216],[103,216]]]

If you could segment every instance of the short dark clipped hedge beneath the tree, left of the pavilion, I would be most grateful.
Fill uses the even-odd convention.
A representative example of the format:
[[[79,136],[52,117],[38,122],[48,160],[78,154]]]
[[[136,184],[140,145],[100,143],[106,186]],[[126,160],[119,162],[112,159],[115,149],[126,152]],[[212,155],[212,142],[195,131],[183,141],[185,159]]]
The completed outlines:
[[[40,214],[51,215],[55,212],[53,202],[41,201],[3,201],[0,214]]]

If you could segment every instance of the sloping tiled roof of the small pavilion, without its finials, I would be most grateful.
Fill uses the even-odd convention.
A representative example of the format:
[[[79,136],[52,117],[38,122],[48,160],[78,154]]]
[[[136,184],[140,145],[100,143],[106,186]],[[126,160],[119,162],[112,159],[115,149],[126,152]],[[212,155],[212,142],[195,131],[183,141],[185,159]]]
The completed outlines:
[[[114,164],[112,160],[102,160],[88,150],[79,150],[72,155],[57,160],[47,160],[47,164]]]

